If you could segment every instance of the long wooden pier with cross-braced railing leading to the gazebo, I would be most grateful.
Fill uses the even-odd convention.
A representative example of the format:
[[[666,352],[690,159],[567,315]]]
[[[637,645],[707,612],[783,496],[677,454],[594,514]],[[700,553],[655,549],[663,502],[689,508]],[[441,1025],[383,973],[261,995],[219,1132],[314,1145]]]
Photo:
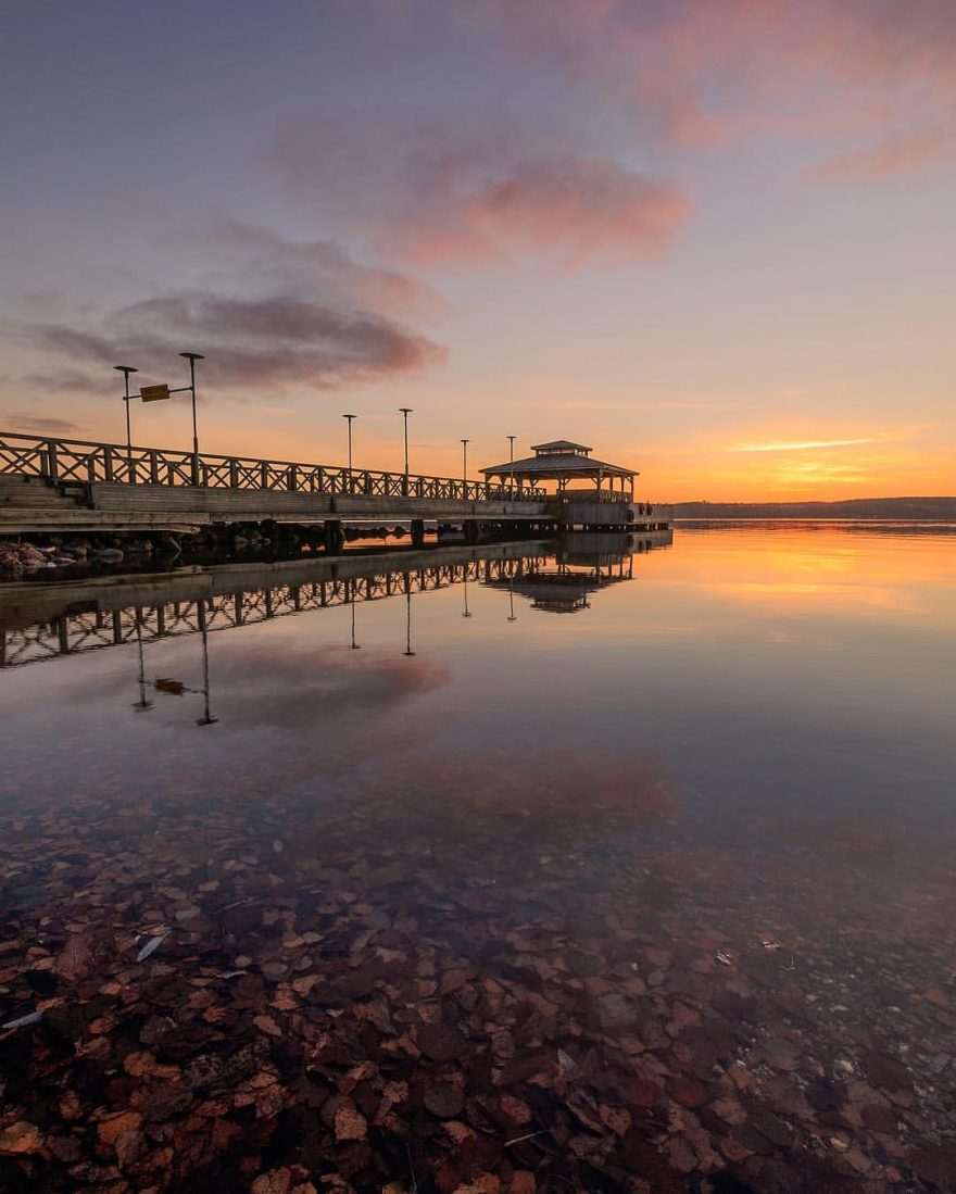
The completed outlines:
[[[20,534],[201,533],[248,524],[454,525],[533,533],[557,528],[662,529],[662,507],[622,493],[548,494],[518,479],[493,484],[0,432],[0,537]]]

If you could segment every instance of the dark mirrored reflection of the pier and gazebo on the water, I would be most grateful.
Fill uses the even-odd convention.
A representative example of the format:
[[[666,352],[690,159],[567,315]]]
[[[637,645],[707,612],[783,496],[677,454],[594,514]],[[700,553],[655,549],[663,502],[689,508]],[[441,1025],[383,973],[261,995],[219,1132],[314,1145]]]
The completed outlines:
[[[653,542],[652,542],[653,540]],[[634,552],[665,546],[670,533],[578,534],[482,547],[434,547],[223,564],[84,580],[0,585],[0,667],[186,634],[253,626],[277,617],[468,584],[532,598],[535,608],[586,608],[587,595],[628,580]],[[409,604],[411,627],[411,604]],[[407,651],[411,652],[411,641]],[[146,697],[141,694],[141,701]],[[146,707],[146,703],[143,703]]]

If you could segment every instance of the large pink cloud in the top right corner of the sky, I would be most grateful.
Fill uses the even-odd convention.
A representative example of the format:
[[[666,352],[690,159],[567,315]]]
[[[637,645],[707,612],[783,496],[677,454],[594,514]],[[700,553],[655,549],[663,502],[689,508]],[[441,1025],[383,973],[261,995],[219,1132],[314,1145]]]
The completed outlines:
[[[951,0],[476,0],[467,19],[659,146],[838,137],[851,148],[828,144],[820,177],[844,179],[956,149]]]

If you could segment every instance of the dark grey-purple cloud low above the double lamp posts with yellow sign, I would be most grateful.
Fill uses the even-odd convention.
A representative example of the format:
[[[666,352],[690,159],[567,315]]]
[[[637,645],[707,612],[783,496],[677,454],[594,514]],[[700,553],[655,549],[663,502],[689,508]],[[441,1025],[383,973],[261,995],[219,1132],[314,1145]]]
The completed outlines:
[[[21,383],[101,393],[107,367],[129,361],[144,378],[168,377],[184,349],[204,353],[205,382],[229,388],[328,389],[445,358],[440,345],[380,309],[397,309],[401,298],[413,306],[412,279],[364,266],[333,242],[298,245],[253,226],[224,226],[211,240],[228,246],[232,267],[217,270],[206,288],[149,297],[99,319],[19,325],[21,338],[73,367],[67,377]]]

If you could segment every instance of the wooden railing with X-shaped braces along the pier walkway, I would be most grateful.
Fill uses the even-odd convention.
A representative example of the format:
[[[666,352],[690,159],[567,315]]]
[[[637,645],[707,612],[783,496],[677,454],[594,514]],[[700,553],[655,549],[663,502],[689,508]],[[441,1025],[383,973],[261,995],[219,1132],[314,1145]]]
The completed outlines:
[[[284,493],[341,493],[378,498],[444,498],[457,501],[541,501],[544,491],[487,481],[383,473],[369,468],[297,464],[290,461],[210,456],[166,448],[48,439],[0,431],[0,474],[43,476],[50,481],[115,481],[124,485],[189,485]]]

